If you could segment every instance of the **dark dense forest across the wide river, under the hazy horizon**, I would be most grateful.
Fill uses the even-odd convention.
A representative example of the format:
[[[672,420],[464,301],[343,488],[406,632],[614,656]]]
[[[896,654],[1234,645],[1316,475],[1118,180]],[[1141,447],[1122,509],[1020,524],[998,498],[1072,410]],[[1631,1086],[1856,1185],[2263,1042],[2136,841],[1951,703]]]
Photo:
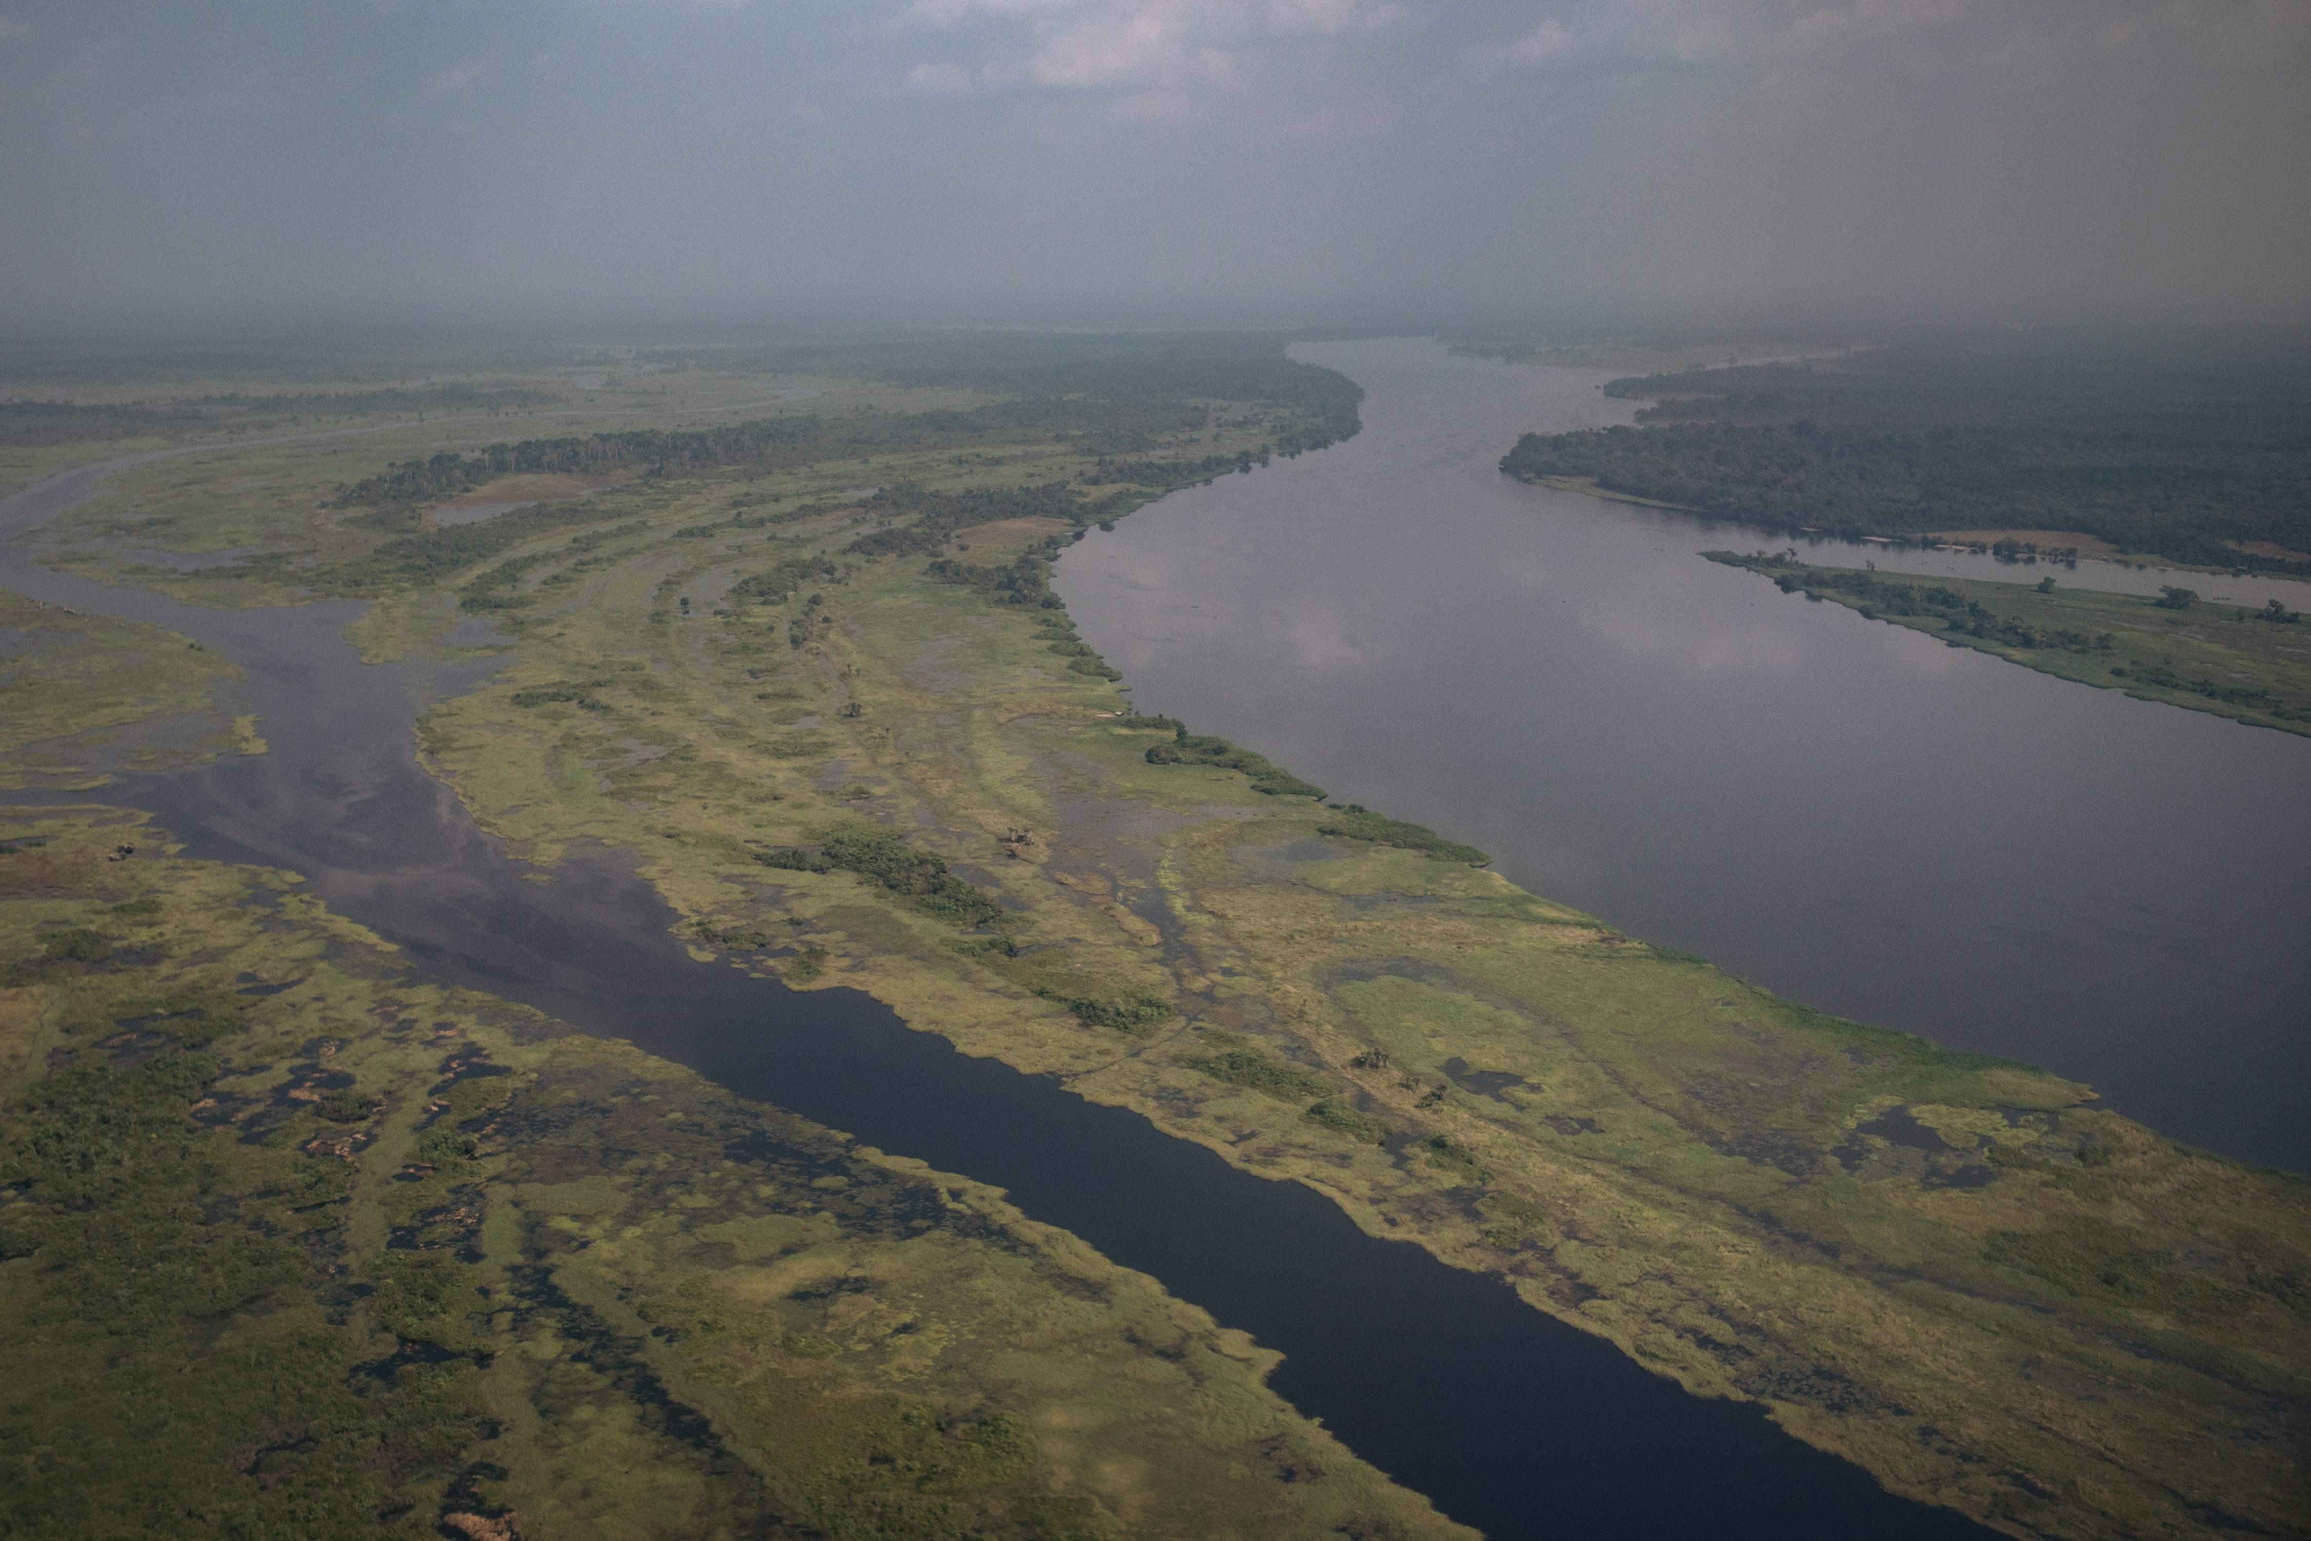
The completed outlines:
[[[1641,427],[1525,434],[1502,471],[1773,529],[2061,529],[2121,552],[2311,573],[2299,333],[1937,337],[1606,393],[1652,402]]]

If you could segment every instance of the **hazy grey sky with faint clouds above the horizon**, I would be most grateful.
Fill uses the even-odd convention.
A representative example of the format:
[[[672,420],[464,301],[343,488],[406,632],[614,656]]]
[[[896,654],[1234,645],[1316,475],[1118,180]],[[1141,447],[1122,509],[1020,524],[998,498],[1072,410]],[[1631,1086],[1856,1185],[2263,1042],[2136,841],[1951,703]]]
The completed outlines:
[[[2311,319],[2311,0],[0,0],[0,330]]]

